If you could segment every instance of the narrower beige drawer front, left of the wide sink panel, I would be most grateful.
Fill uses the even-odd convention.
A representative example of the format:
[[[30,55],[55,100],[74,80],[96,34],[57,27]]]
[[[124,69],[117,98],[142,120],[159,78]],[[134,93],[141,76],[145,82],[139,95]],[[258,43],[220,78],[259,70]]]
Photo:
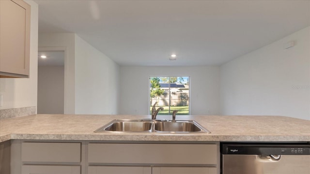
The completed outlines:
[[[81,144],[24,142],[21,158],[25,162],[80,162]]]

